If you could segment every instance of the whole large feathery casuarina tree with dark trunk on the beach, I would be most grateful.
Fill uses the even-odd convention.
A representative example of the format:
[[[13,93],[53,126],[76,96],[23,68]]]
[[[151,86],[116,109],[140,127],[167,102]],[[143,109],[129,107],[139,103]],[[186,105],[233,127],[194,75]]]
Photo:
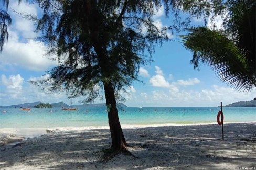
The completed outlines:
[[[116,99],[122,100],[120,92],[137,80],[140,65],[151,61],[155,44],[169,40],[167,31],[179,32],[188,26],[191,16],[182,20],[178,15],[180,7],[200,17],[205,16],[200,13],[205,2],[200,1],[201,6],[194,6],[199,1],[167,0],[36,2],[43,10],[42,17],[27,17],[36,22],[36,31],[41,33],[37,39],[49,45],[48,54],[58,56],[59,66],[48,71],[45,80],[31,83],[45,90],[65,90],[70,98],[84,96],[86,103],[104,94],[110,106],[110,157],[129,153]],[[173,25],[155,26],[153,16],[161,7],[166,15],[172,14]]]

